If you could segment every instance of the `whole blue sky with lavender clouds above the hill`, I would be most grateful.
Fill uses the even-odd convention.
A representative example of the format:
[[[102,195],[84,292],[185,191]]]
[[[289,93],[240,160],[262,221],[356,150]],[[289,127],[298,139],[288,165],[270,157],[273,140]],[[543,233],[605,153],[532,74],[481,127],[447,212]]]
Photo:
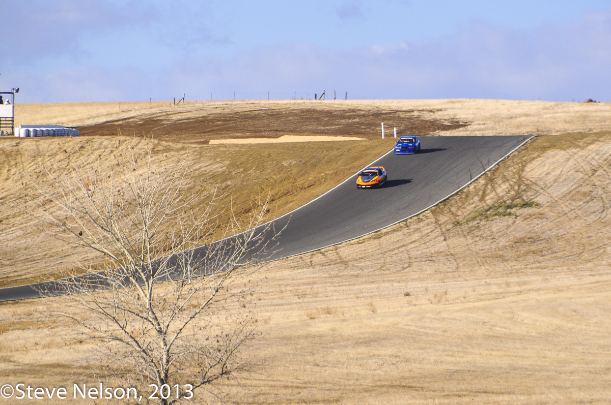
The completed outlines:
[[[611,101],[609,0],[0,0],[0,15],[0,89],[21,102]]]

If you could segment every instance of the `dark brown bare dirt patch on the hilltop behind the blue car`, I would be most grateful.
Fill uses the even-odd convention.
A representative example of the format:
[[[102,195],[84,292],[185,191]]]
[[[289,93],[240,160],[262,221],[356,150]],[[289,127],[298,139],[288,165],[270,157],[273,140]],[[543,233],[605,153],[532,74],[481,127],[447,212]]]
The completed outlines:
[[[377,107],[346,109],[337,106],[260,105],[237,111],[189,110],[148,114],[79,127],[83,136],[135,135],[171,142],[207,143],[211,139],[279,138],[284,135],[327,135],[361,138],[387,136],[393,127],[399,135],[450,131],[466,126],[458,120],[422,118],[417,110],[386,110]]]

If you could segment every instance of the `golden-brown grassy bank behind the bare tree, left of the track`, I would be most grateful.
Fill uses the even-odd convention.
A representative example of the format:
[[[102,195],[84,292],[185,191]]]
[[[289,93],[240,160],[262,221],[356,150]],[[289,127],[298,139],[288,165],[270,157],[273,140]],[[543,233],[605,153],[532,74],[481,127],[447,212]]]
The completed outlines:
[[[230,207],[238,221],[247,221],[257,196],[269,195],[271,217],[284,215],[351,176],[392,148],[392,143],[363,140],[270,147],[185,145],[130,137],[5,140],[0,142],[0,287],[95,268],[100,256],[58,243],[54,229],[40,221],[40,188],[53,187],[54,176],[89,159],[111,173],[119,148],[142,152],[148,147],[169,165],[186,162],[186,192],[202,197],[194,210],[203,212],[216,194],[213,212],[224,224]]]

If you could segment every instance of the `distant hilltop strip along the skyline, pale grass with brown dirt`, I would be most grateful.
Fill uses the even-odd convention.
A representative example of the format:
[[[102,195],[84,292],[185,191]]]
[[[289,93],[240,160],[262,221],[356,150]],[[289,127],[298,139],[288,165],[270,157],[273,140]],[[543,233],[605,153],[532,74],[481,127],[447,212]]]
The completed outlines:
[[[558,135],[611,131],[610,103],[489,99],[16,104],[16,124],[179,142],[281,135]],[[174,129],[181,128],[182,132]]]

